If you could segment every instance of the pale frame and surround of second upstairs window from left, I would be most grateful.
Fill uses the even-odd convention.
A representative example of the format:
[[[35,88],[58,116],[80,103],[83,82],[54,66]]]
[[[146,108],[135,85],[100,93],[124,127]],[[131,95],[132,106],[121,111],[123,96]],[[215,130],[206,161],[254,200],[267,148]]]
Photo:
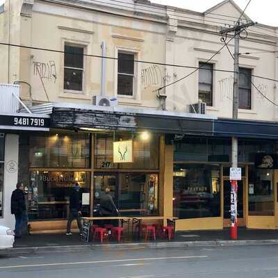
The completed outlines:
[[[115,47],[115,57],[118,58],[120,53],[125,53],[125,54],[133,54],[134,55],[134,60],[140,60],[140,50],[136,48],[127,48],[127,47],[120,47],[116,46]],[[119,99],[137,99],[141,100],[141,95],[140,95],[140,78],[139,78],[139,72],[140,72],[140,63],[134,62],[134,73],[133,73],[133,95],[118,95],[117,94],[117,81],[118,81],[118,74],[117,72],[117,65],[118,61],[115,60],[115,74],[114,74],[114,79],[115,79],[115,90],[114,90],[114,95],[115,97]],[[121,73],[120,73],[121,74]],[[123,74],[124,75],[124,74]],[[131,76],[132,74],[125,74]]]

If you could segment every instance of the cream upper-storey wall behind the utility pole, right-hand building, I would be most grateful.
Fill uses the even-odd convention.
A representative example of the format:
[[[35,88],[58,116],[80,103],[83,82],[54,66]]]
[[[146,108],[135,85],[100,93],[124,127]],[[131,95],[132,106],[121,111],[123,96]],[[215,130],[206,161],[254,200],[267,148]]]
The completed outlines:
[[[250,31],[250,35],[252,35],[252,31]],[[198,67],[199,61],[204,62],[211,58],[215,51],[223,45],[220,42],[220,35],[217,33],[205,33],[204,31],[186,28],[179,28],[177,35],[174,37],[174,42],[174,63],[195,67]],[[234,53],[234,40],[229,43],[229,49]],[[273,41],[271,44],[265,44],[262,39],[261,41],[252,40],[252,42],[250,40],[240,40],[240,51],[244,53],[274,51],[275,49]],[[240,56],[239,63],[240,67],[251,68],[254,75],[275,79],[275,59],[275,54],[252,54],[250,56]],[[215,65],[216,69],[234,70],[234,60],[227,49],[222,49],[220,54],[215,55],[211,63]],[[178,67],[175,71],[177,79],[181,79],[192,72],[193,69]],[[174,85],[174,110],[187,112],[189,104],[198,101],[198,75],[199,72],[196,72]],[[217,115],[218,117],[231,117],[232,76],[232,72],[213,72],[213,107],[208,107],[208,114]],[[277,99],[274,81],[253,77],[252,82],[261,90],[263,95],[273,101]],[[262,97],[252,86],[252,110],[239,109],[238,117],[248,120],[275,121],[277,120],[275,111],[277,111],[277,108]]]

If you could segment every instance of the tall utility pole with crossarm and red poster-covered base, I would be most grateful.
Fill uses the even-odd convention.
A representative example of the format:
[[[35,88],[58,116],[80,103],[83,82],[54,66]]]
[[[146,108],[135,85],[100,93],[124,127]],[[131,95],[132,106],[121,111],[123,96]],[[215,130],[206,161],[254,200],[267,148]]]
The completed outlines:
[[[221,35],[227,35],[229,32],[234,32],[234,86],[233,86],[233,119],[238,119],[238,78],[239,78],[239,40],[240,32],[249,26],[253,26],[254,22],[241,24],[236,22],[236,26],[226,28],[220,31]],[[225,42],[226,43],[226,42]],[[231,239],[238,238],[238,180],[241,179],[241,169],[238,168],[238,138],[231,138]]]

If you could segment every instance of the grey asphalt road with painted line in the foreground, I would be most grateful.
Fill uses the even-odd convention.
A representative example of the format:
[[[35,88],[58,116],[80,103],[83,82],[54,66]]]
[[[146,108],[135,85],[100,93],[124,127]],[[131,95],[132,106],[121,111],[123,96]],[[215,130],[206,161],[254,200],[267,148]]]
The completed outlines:
[[[1,256],[1,278],[277,278],[278,245]]]

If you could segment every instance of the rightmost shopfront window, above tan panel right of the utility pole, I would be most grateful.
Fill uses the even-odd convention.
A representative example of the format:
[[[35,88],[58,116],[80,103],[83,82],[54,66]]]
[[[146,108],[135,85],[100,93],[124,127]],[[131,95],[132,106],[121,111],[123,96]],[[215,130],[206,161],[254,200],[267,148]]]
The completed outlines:
[[[249,167],[249,215],[274,215],[272,169]]]

